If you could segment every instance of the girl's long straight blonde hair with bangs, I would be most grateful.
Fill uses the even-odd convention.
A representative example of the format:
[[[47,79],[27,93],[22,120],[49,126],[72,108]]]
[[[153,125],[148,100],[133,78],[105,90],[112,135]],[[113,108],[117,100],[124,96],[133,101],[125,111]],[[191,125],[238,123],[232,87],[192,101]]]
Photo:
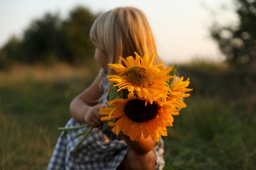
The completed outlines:
[[[162,63],[150,24],[144,12],[135,7],[119,7],[98,16],[91,27],[90,39],[106,52],[109,63],[121,63],[119,56],[135,56],[134,52],[139,56],[155,53],[154,64]],[[110,73],[113,72],[108,70]]]

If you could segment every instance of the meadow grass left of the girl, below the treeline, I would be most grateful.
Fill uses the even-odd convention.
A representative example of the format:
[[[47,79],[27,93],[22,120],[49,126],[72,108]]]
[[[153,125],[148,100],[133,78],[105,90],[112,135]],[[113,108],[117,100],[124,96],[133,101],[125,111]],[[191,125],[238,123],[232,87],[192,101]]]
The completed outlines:
[[[60,69],[62,78],[45,70],[0,76],[0,169],[46,169],[70,101],[93,80],[83,71]]]

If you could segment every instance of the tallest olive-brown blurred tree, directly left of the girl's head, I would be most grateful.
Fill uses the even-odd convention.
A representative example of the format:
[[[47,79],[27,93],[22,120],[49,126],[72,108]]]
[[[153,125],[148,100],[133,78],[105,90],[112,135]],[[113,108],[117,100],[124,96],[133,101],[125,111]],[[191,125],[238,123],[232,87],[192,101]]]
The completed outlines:
[[[84,7],[76,7],[63,22],[66,59],[72,63],[83,63],[93,58],[94,47],[89,38],[96,14]]]

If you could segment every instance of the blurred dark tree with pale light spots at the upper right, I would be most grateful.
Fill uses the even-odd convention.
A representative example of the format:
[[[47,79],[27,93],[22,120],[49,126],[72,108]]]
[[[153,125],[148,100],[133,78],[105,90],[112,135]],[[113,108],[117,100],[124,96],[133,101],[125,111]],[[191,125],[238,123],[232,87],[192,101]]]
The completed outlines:
[[[234,0],[238,25],[214,24],[211,35],[226,60],[235,66],[256,64],[256,1]]]

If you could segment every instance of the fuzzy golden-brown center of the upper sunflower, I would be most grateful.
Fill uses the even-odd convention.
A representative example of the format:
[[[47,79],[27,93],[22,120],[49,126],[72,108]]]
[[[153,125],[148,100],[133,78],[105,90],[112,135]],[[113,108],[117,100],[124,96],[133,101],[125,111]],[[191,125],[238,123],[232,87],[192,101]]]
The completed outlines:
[[[147,67],[133,66],[126,72],[127,80],[133,86],[148,87],[152,84],[155,76]]]

